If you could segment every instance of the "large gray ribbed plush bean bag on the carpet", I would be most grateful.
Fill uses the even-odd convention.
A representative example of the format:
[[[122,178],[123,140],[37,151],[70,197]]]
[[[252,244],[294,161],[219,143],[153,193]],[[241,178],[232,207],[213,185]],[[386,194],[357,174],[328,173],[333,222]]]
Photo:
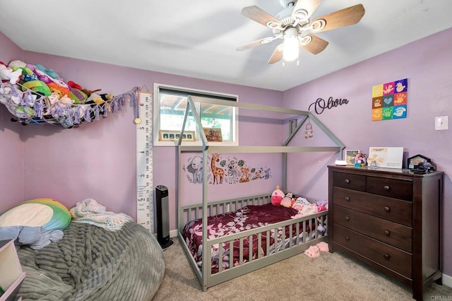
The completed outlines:
[[[42,249],[21,247],[26,273],[22,300],[151,300],[165,260],[150,232],[134,222],[112,232],[71,223],[64,237]]]

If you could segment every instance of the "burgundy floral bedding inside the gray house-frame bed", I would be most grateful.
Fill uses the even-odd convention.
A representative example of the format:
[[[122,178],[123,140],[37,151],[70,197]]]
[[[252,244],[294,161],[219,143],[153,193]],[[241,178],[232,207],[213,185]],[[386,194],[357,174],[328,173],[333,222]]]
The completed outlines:
[[[271,203],[266,205],[245,206],[238,211],[220,214],[218,216],[208,217],[208,238],[213,239],[216,237],[222,237],[228,234],[241,232],[244,230],[251,230],[259,228],[265,225],[273,223],[279,223],[284,220],[290,220],[292,216],[298,213],[294,208],[285,208],[283,206],[273,206]],[[203,260],[203,245],[202,245],[202,219],[191,220],[184,227],[183,235],[187,246],[190,249],[191,254],[198,266],[201,268]],[[292,231],[295,232],[295,227],[292,227]],[[308,228],[308,227],[307,227]],[[301,228],[300,228],[301,229]],[[307,229],[309,231],[309,229]],[[300,230],[301,232],[301,230]],[[278,243],[278,238],[282,236],[282,230],[278,230],[275,235],[274,232],[270,235],[270,246],[275,242],[275,237]],[[289,235],[289,227],[286,227],[286,237]],[[295,236],[295,233],[292,233]],[[261,249],[258,250],[258,238],[257,235],[252,237],[252,250],[249,249],[249,237],[244,239],[243,247],[243,261],[246,262],[249,259],[249,253],[252,252],[251,258],[256,259],[258,252],[266,254],[266,235],[261,235]],[[275,248],[274,245],[272,247]],[[230,263],[230,246],[229,242],[222,244],[222,269],[229,268]],[[270,252],[273,252],[270,249]],[[218,244],[212,247],[212,273],[218,273]],[[232,248],[233,264],[236,266],[239,264],[239,240],[234,240]]]

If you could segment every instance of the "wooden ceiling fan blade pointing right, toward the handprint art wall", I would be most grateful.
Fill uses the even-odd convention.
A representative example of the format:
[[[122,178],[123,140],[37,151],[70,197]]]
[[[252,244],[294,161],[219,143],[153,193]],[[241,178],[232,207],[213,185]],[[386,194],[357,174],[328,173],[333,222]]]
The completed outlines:
[[[332,30],[343,26],[353,25],[361,20],[364,16],[365,10],[362,4],[350,6],[348,8],[329,13],[328,15],[321,16],[312,20],[311,25],[314,26],[311,31],[313,33],[320,33],[326,30]],[[322,24],[323,23],[323,24]]]

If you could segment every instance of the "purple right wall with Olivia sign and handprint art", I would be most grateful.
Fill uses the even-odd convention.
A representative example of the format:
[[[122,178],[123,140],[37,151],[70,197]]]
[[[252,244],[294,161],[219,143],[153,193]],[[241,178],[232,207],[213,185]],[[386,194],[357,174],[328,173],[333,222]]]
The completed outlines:
[[[285,91],[284,105],[307,110],[317,98],[347,98],[349,103],[317,115],[346,148],[369,152],[371,146],[403,146],[407,158],[422,154],[432,158],[444,177],[444,273],[452,275],[452,123],[449,130],[435,131],[434,117],[452,112],[452,29],[432,35],[316,81]],[[373,85],[408,78],[408,116],[371,122]],[[312,111],[312,110],[311,110]],[[449,116],[451,117],[451,116]],[[310,163],[293,166],[300,177],[315,176],[312,186],[302,190],[308,196],[326,198],[325,163],[316,157]],[[406,163],[406,160],[405,160]],[[308,167],[305,167],[308,165]],[[317,172],[315,172],[317,171]]]

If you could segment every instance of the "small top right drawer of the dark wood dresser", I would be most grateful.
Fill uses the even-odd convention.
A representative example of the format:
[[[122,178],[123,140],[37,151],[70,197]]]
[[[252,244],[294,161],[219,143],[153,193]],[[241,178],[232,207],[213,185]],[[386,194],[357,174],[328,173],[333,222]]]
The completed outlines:
[[[412,182],[401,179],[386,179],[381,177],[367,177],[366,191],[371,194],[389,196],[394,199],[411,201]]]

